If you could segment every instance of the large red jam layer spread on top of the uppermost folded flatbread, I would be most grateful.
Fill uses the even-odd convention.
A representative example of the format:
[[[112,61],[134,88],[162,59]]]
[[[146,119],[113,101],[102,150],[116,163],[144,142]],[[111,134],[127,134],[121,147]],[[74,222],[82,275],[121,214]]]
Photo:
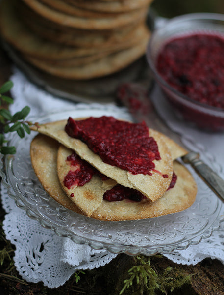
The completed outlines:
[[[130,123],[113,117],[68,119],[65,131],[80,139],[98,154],[103,162],[127,170],[132,174],[149,174],[160,160],[158,146],[149,137],[145,122]]]

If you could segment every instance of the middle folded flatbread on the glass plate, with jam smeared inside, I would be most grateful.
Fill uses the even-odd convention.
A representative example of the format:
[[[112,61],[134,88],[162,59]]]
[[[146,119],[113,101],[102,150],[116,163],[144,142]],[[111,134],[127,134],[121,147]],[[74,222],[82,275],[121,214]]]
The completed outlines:
[[[67,188],[64,185],[64,178],[69,171],[75,171],[76,166],[70,166],[66,161],[67,157],[73,153],[73,150],[62,145],[57,153],[57,175],[61,187],[67,196],[75,203],[77,207],[87,216],[90,216],[102,203],[102,197],[105,191],[111,189],[117,183],[112,179],[103,181],[98,175],[93,175],[91,180],[84,186],[72,186]],[[74,195],[74,196],[73,196]]]

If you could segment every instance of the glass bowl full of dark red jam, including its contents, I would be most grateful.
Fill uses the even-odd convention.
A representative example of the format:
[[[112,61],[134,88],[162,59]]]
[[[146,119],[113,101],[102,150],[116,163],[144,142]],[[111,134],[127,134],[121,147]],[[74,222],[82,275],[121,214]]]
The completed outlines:
[[[156,29],[147,59],[179,118],[224,131],[224,15],[193,13]]]

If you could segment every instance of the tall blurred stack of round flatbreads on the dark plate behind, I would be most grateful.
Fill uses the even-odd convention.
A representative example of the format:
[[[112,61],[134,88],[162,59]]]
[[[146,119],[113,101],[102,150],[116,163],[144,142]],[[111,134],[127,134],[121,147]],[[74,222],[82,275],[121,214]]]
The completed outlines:
[[[2,0],[0,33],[50,75],[87,80],[144,55],[152,0]]]

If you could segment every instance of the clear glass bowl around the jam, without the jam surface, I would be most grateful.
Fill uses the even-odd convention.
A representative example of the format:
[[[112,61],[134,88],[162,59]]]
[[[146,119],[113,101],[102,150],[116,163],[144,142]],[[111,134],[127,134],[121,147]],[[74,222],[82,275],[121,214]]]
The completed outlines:
[[[168,84],[159,74],[156,61],[163,46],[175,37],[191,34],[220,35],[224,38],[224,15],[193,13],[175,17],[156,29],[147,47],[147,60],[157,84],[171,103],[175,114],[194,126],[209,131],[224,131],[224,109],[200,103]]]

